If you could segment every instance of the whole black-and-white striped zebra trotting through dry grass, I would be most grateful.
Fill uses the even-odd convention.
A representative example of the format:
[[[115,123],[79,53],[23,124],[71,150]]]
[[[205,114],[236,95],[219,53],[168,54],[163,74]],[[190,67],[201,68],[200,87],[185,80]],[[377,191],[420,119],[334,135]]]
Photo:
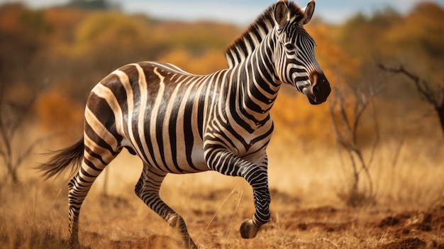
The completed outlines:
[[[270,221],[266,148],[279,88],[292,85],[311,104],[325,102],[331,92],[304,29],[314,7],[313,0],[304,9],[288,0],[272,4],[227,48],[225,70],[196,75],[164,62],[139,62],[96,84],[81,138],[40,165],[45,179],[73,170],[70,245],[79,245],[79,212],[91,184],[123,148],[143,161],[135,194],[179,231],[186,248],[197,246],[184,219],[159,196],[168,173],[213,170],[243,177],[252,187],[255,213],[241,223],[240,236],[255,238]]]

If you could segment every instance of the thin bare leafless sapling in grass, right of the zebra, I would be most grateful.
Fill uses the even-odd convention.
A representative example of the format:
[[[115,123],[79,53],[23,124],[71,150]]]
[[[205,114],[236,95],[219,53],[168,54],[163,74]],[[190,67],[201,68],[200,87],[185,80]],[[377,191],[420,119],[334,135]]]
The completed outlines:
[[[372,120],[374,122],[372,137],[373,145],[370,156],[365,159],[363,146],[358,143],[358,130],[362,128],[362,117],[368,107],[373,104],[374,97],[384,89],[385,84],[360,84],[349,86],[348,89],[336,87],[334,102],[330,107],[331,123],[335,140],[350,157],[350,164],[353,169],[353,184],[347,193],[343,194],[343,199],[350,206],[361,206],[372,204],[374,201],[373,181],[370,176],[374,153],[379,144],[379,123],[377,121],[376,108],[372,106]],[[353,99],[345,100],[345,94],[353,96]],[[351,107],[348,108],[348,107]],[[367,177],[368,188],[360,190],[361,173]]]

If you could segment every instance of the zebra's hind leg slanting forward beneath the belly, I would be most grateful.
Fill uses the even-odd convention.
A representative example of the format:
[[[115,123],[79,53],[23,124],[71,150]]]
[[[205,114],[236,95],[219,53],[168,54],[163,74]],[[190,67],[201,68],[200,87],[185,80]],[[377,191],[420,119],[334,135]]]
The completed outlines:
[[[177,229],[182,236],[182,242],[187,249],[197,248],[189,236],[187,225],[182,216],[160,199],[159,190],[167,173],[155,169],[149,165],[143,165],[143,172],[135,185],[135,194],[145,202],[147,206],[167,221],[172,228]]]

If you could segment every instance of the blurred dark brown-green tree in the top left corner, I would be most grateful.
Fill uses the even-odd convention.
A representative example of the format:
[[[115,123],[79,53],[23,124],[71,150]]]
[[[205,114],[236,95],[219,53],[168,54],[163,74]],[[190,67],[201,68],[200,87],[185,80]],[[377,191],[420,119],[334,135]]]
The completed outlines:
[[[21,4],[0,6],[0,84],[33,87],[36,80],[43,81],[39,62],[51,31],[43,11]]]

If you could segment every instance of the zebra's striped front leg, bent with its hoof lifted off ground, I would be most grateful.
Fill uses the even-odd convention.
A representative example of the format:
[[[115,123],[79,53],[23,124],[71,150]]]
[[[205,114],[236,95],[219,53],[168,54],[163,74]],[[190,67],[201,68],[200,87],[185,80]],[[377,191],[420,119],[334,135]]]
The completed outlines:
[[[254,157],[255,155],[252,155]],[[242,238],[255,238],[260,226],[270,221],[270,191],[268,189],[267,155],[258,153],[259,165],[237,157],[227,150],[207,150],[206,160],[212,170],[223,175],[243,177],[252,187],[255,214],[240,226]],[[263,161],[263,162],[262,162]]]

